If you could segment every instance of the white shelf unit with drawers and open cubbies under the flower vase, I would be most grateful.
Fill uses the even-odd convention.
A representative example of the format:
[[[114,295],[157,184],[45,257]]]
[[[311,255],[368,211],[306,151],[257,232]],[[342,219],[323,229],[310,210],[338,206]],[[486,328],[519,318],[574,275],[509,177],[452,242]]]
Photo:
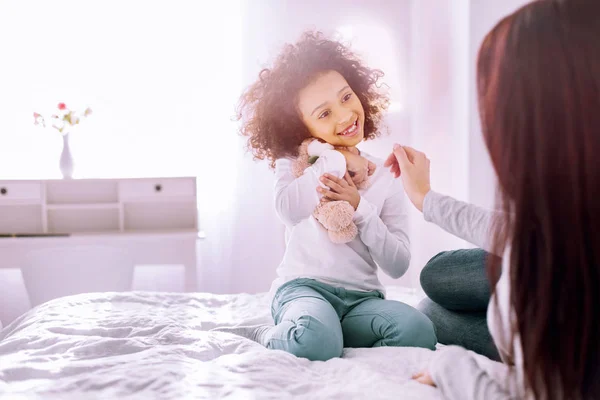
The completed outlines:
[[[195,178],[0,181],[0,234],[198,230]]]

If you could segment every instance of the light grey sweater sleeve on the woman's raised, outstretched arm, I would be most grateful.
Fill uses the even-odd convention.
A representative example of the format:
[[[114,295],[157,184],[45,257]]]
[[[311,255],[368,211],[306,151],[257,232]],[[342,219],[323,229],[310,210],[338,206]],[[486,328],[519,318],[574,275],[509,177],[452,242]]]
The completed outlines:
[[[492,232],[501,229],[502,213],[429,191],[423,201],[423,216],[445,231],[492,252]],[[497,254],[501,256],[502,254]]]

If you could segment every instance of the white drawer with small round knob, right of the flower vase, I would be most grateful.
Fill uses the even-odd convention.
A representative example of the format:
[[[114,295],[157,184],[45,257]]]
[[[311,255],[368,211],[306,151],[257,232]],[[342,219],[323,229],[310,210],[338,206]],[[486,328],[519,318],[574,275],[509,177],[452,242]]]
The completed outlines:
[[[136,179],[119,182],[121,200],[160,200],[165,197],[196,197],[194,179]]]

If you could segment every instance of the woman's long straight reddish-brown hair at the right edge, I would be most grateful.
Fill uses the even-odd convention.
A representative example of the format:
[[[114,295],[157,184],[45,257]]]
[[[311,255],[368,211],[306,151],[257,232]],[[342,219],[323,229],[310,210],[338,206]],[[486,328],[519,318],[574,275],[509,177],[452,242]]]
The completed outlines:
[[[600,1],[538,0],[477,63],[515,322],[535,398],[600,396]],[[492,258],[492,275],[499,264]]]

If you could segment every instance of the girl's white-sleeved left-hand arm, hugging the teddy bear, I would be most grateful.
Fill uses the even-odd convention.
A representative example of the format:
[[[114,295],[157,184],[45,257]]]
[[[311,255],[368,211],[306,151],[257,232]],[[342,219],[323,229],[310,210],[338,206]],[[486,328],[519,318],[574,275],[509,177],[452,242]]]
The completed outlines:
[[[319,177],[325,173],[342,177],[346,173],[346,159],[336,150],[325,150],[317,161],[296,178],[293,161],[280,158],[275,162],[275,210],[287,225],[294,226],[310,217],[321,199],[317,192]]]

